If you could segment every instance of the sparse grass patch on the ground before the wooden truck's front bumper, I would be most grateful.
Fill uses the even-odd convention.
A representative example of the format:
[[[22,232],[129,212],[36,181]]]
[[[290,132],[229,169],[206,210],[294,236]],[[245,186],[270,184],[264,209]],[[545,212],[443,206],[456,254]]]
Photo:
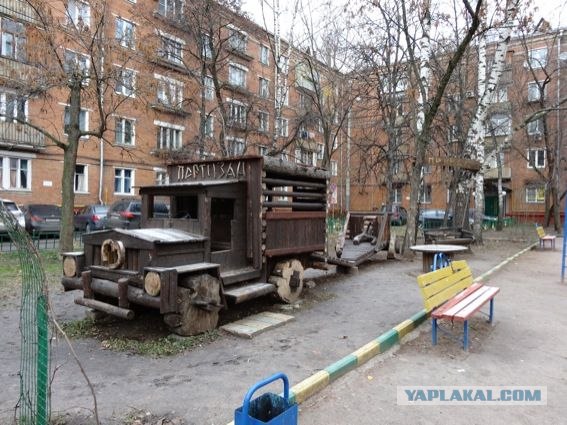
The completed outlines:
[[[64,323],[61,327],[71,339],[94,338],[100,341],[104,349],[150,357],[174,356],[209,344],[220,336],[216,329],[188,337],[156,335],[155,332],[144,334],[143,328],[147,321],[143,318],[138,321],[142,329],[140,332],[130,332],[132,336],[116,336],[116,326],[124,322],[99,324],[92,319],[83,319]]]

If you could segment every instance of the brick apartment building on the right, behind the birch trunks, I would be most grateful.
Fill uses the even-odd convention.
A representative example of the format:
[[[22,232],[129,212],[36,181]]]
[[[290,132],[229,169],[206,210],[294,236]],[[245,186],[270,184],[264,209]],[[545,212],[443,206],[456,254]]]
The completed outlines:
[[[567,96],[566,37],[562,29],[545,28],[526,37],[516,37],[509,44],[505,71],[490,99],[486,123],[486,215],[498,214],[498,157],[505,192],[504,214],[507,216],[541,221],[545,211],[546,181],[556,179],[559,195],[567,189],[567,143],[563,130],[567,118],[554,107]],[[488,57],[494,48],[495,43],[488,44]],[[466,140],[471,111],[478,97],[476,52],[472,50],[470,55],[472,59],[467,62],[473,65],[467,72],[468,78],[460,81],[462,92],[453,80],[435,124],[434,140],[427,155],[432,164],[423,169],[422,209],[445,209],[449,201],[451,170],[435,165],[435,162],[443,162],[445,158],[467,158],[462,146],[458,145]],[[412,132],[411,119],[406,118],[411,116],[413,100],[411,85],[403,76],[397,78],[393,83],[389,81],[390,87],[380,96],[394,99],[391,105],[386,105],[389,109],[380,105],[378,95],[373,95],[370,90],[359,99],[358,105],[355,102],[353,106],[350,138],[350,207],[353,210],[372,210],[388,202],[388,183],[392,188],[390,202],[409,205],[412,163],[408,140]],[[374,81],[377,86],[380,84],[379,79]],[[524,123],[535,111],[546,108],[551,108],[549,114]],[[388,137],[388,114],[392,110],[391,127],[396,134]],[[378,131],[374,124],[376,117],[379,117],[382,128]],[[550,177],[551,173],[554,177]],[[469,195],[471,206],[474,205],[473,192]]]

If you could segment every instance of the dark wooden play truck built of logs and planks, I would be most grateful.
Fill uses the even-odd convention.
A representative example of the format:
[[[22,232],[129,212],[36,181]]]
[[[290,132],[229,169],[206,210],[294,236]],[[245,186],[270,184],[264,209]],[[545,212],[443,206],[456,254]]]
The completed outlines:
[[[294,302],[308,267],[355,266],[388,247],[388,214],[369,213],[347,220],[341,258],[327,253],[322,169],[247,156],[170,164],[168,177],[140,188],[140,229],[86,233],[83,252],[63,254],[62,284],[82,290],[77,304],[125,319],[135,305],[157,309],[173,332],[194,335],[231,304]],[[169,217],[154,217],[154,202]]]

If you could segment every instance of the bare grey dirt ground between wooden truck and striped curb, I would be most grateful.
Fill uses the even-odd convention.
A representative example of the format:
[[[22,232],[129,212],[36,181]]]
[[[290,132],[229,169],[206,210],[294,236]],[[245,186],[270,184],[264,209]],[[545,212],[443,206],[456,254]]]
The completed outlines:
[[[530,230],[485,233],[483,246],[473,247],[472,253],[457,258],[467,259],[473,274],[479,275],[533,242],[535,231]],[[312,273],[316,286],[308,289],[296,306],[282,306],[266,298],[223,314],[222,322],[263,310],[295,316],[293,322],[251,340],[220,332],[211,343],[177,356],[159,358],[111,351],[99,339],[75,340],[74,349],[93,383],[102,424],[225,424],[255,382],[282,371],[292,385],[298,383],[421,310],[415,281],[420,269],[419,258],[386,260],[381,253],[356,274]],[[73,303],[75,296],[59,288],[52,291],[53,314],[60,322],[84,317],[84,308]],[[19,394],[18,300],[5,304],[0,310],[3,424],[11,423]],[[155,319],[143,315],[127,325],[113,326],[116,332],[143,333],[150,328],[158,334],[164,332],[161,325],[154,323]],[[422,350],[411,344],[402,350],[412,347],[416,352]],[[94,423],[90,390],[69,348],[60,339],[53,340],[52,370],[55,423]],[[308,406],[309,401],[302,406],[300,423],[304,423]],[[305,423],[341,422],[316,419]]]

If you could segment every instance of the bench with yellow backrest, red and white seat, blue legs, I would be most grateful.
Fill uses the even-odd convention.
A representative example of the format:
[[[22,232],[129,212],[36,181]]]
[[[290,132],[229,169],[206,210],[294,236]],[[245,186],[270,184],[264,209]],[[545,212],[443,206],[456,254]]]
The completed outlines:
[[[469,319],[490,301],[488,321],[494,319],[494,297],[500,288],[473,283],[464,260],[417,278],[425,309],[431,312],[431,339],[437,344],[438,320],[463,322],[463,349],[469,348]],[[432,311],[433,310],[433,311]]]

